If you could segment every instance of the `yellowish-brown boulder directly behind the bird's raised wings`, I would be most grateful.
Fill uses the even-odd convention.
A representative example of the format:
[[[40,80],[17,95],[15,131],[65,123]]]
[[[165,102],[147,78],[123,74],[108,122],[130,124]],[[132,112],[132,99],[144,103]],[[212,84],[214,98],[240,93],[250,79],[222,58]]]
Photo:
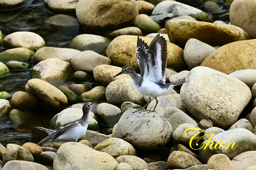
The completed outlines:
[[[140,70],[136,59],[137,38],[134,35],[122,35],[111,41],[106,53],[113,65],[123,67],[129,64],[135,71]],[[153,39],[143,37],[142,40],[149,45]],[[167,52],[167,68],[172,68],[176,71],[183,70],[185,66],[183,49],[173,43],[167,42]]]

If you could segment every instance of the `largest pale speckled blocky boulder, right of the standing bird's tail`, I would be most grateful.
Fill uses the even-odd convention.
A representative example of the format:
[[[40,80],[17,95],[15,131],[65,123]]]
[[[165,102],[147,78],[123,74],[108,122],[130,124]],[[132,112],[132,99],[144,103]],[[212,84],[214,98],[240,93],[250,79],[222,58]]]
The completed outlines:
[[[210,119],[220,128],[236,122],[251,95],[249,87],[240,80],[201,66],[190,71],[180,89],[181,100],[193,116],[199,120]]]

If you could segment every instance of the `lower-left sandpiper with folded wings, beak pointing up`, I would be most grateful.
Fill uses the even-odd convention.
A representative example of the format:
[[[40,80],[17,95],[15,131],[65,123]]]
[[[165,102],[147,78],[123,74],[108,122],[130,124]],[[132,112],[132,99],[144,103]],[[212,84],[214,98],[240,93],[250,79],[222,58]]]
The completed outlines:
[[[99,100],[99,99],[97,99]],[[44,130],[49,136],[41,140],[38,145],[43,144],[47,140],[52,138],[54,141],[65,141],[65,142],[77,142],[78,139],[83,137],[86,133],[89,124],[89,113],[92,109],[93,104],[97,101],[87,102],[83,105],[83,116],[73,122],[68,122],[57,129],[46,129],[43,127],[35,127],[36,129]],[[52,143],[51,142],[51,143]]]

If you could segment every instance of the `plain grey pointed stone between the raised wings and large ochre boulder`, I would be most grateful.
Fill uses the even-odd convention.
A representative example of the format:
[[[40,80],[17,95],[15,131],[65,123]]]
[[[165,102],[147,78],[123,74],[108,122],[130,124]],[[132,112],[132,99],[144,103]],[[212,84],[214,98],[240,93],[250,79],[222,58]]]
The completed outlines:
[[[191,38],[187,41],[184,48],[184,60],[188,68],[191,70],[196,66],[200,66],[204,59],[215,50],[216,49],[212,46]]]

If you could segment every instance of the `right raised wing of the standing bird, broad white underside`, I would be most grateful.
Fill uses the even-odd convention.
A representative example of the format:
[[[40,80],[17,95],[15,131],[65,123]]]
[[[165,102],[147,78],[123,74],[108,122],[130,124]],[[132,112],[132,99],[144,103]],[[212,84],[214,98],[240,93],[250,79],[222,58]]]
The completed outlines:
[[[164,87],[166,65],[167,43],[163,36],[157,34],[145,56],[143,80],[148,79]]]

